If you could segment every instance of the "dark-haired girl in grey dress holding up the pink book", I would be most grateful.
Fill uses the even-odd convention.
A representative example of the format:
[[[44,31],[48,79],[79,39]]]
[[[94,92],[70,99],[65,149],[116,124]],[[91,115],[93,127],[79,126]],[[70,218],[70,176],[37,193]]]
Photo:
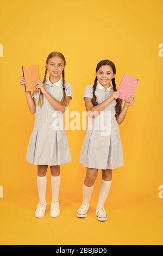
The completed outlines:
[[[98,221],[108,220],[104,203],[111,187],[112,169],[124,164],[119,125],[124,120],[128,107],[134,103],[134,95],[126,99],[122,109],[123,101],[118,99],[120,93],[116,89],[115,75],[115,64],[108,59],[101,60],[96,67],[93,86],[89,85],[85,88],[85,107],[92,129],[87,129],[80,155],[80,163],[87,168],[83,182],[83,203],[77,210],[77,217],[80,218],[87,216],[97,172],[98,169],[102,169],[96,217]],[[99,117],[104,118],[99,119]],[[108,117],[109,123],[106,122]],[[106,129],[109,126],[109,132],[103,133],[99,129],[100,125],[97,129],[97,121],[100,121],[99,124]]]

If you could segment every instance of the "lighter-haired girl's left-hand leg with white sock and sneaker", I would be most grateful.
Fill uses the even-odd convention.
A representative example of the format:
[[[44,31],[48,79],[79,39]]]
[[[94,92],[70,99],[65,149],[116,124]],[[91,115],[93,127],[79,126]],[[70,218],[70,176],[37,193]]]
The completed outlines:
[[[45,215],[46,210],[46,172],[47,165],[38,165],[37,166],[37,188],[39,192],[39,204],[35,211],[35,217],[42,218]]]

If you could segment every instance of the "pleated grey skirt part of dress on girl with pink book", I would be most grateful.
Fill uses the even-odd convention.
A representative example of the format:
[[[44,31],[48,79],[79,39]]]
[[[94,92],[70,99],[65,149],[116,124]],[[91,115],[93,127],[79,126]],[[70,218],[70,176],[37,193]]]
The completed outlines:
[[[87,130],[80,154],[80,163],[94,169],[115,169],[124,165],[120,131],[114,129],[109,136],[101,131]]]

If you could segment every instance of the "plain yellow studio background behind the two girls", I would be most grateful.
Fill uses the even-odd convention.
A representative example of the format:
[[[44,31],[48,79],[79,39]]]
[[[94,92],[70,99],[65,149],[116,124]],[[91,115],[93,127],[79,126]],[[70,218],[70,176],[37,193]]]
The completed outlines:
[[[53,245],[162,244],[162,1],[1,1],[1,173],[0,243]],[[124,73],[139,77],[135,103],[120,125],[124,166],[113,170],[105,203],[109,220],[95,218],[101,170],[87,218],[76,217],[82,203],[85,167],[79,163],[85,131],[67,131],[72,162],[61,166],[60,210],[34,217],[38,202],[37,166],[25,160],[34,114],[20,87],[22,65],[39,64],[47,55],[66,58],[66,81],[73,86],[70,111],[85,111],[83,93],[95,79],[97,63],[116,65],[116,84]]]

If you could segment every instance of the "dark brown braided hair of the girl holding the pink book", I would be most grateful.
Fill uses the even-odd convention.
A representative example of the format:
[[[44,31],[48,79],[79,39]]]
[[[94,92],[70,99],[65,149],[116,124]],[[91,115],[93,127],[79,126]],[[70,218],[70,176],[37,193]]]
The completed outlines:
[[[99,62],[97,64],[97,66],[96,66],[96,73],[99,70],[99,68],[101,68],[101,66],[103,66],[103,65],[111,66],[113,74],[114,75],[116,74],[115,64],[113,62],[111,62],[111,60],[109,60],[109,59],[103,59],[103,60],[101,60],[101,62]],[[114,92],[116,92],[117,88],[116,88],[115,78],[112,78],[111,82],[112,82],[113,90],[114,90]],[[95,95],[96,87],[97,87],[97,76],[96,76],[95,82],[93,84],[93,97],[92,97],[92,104],[93,104],[93,106],[98,105],[97,97]],[[116,106],[115,106],[115,111],[116,111],[115,117],[117,117],[121,113],[121,111],[122,111],[122,105],[121,105],[122,100],[116,99],[116,102],[117,103],[116,103]]]

